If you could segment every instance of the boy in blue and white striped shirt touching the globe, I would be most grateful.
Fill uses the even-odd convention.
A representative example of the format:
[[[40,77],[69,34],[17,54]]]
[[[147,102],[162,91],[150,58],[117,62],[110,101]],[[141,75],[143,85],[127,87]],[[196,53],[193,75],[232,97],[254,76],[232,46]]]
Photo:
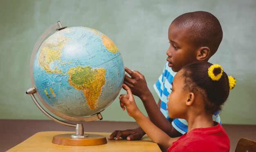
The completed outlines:
[[[184,119],[169,118],[166,111],[167,96],[171,92],[173,77],[184,65],[196,61],[208,61],[218,50],[222,40],[222,28],[218,19],[211,13],[204,11],[185,13],[171,23],[168,39],[170,47],[166,51],[167,63],[164,72],[154,85],[159,96],[158,104],[148,89],[144,76],[139,72],[131,71],[126,67],[125,71],[131,77],[125,75],[124,84],[131,89],[133,95],[142,100],[151,122],[170,137],[180,137],[187,130],[187,122]],[[220,122],[219,111],[214,113],[213,120]],[[119,140],[122,137],[127,140],[139,140],[143,135],[145,132],[139,127],[115,130],[109,139]]]

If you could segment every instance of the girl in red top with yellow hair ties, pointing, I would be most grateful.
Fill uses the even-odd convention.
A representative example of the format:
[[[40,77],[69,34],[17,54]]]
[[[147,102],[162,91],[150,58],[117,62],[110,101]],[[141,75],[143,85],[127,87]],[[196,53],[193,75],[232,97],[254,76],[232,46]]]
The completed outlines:
[[[167,110],[171,118],[188,122],[188,131],[181,137],[171,138],[139,111],[132,92],[125,84],[120,105],[126,109],[146,134],[158,143],[162,151],[229,152],[229,137],[212,115],[221,110],[236,80],[227,76],[218,64],[200,61],[184,66],[173,78]]]

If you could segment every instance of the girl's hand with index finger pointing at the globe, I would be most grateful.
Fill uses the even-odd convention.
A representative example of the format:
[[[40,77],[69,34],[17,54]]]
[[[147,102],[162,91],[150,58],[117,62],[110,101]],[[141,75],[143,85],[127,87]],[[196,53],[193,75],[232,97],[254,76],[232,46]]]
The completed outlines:
[[[121,94],[119,99],[120,99],[120,106],[123,110],[126,109],[128,115],[131,117],[135,117],[140,111],[135,103],[135,100],[132,96],[132,91],[131,89],[123,84],[123,88],[126,90],[127,94]]]

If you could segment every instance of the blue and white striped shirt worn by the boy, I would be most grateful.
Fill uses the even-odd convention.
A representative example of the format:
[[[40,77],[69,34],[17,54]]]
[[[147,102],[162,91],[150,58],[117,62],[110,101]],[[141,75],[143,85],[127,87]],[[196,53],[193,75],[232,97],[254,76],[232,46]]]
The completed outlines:
[[[171,67],[168,66],[168,62],[164,67],[164,72],[159,76],[157,82],[154,84],[154,89],[157,92],[159,98],[161,99],[160,111],[164,116],[172,123],[173,127],[184,134],[188,130],[188,123],[185,119],[172,119],[168,117],[168,111],[166,110],[166,103],[168,102],[167,96],[171,93],[171,83],[173,82],[173,77],[176,72],[173,72]],[[217,111],[213,114],[213,121],[220,122],[220,111]]]

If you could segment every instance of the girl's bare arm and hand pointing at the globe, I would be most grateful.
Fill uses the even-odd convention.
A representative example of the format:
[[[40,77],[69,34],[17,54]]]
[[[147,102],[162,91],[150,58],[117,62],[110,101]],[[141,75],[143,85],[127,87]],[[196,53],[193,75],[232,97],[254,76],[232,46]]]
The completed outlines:
[[[127,95],[121,95],[119,97],[121,100],[121,108],[123,110],[126,109],[128,115],[136,120],[148,137],[150,137],[153,142],[158,143],[161,150],[166,151],[178,138],[169,137],[164,131],[159,129],[145,115],[143,115],[134,101],[130,88],[126,85],[123,85],[123,87],[126,89]]]

